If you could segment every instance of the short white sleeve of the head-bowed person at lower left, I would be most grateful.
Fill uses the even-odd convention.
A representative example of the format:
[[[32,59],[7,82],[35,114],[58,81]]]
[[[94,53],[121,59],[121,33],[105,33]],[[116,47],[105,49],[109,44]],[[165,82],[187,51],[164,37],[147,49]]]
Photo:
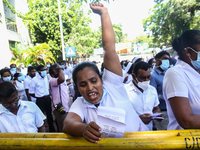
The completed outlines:
[[[33,106],[35,107],[36,126],[37,128],[39,128],[44,124],[44,120],[46,119],[46,117],[35,103],[33,103]]]

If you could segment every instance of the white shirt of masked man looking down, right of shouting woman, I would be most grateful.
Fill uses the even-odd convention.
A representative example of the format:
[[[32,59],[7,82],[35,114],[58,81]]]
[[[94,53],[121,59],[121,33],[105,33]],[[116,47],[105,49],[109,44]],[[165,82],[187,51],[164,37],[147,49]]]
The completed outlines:
[[[138,115],[145,113],[153,114],[153,108],[159,105],[158,94],[153,86],[149,85],[148,89],[143,93],[133,84],[133,82],[126,84],[125,88],[133,108]],[[147,124],[147,127],[151,131],[153,128],[153,121]]]

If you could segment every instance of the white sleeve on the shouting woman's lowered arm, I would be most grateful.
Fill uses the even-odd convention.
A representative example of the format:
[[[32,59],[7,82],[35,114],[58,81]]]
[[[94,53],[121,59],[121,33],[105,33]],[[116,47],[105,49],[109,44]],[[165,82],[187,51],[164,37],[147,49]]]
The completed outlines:
[[[73,113],[77,114],[82,119],[82,122],[83,122],[85,119],[84,110],[85,110],[84,103],[83,103],[82,99],[79,97],[72,103],[72,106],[71,106],[69,112],[73,112]]]

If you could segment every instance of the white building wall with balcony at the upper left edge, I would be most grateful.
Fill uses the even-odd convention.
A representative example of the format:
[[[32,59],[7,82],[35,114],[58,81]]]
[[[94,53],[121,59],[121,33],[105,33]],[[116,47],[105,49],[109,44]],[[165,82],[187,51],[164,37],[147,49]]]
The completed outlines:
[[[16,1],[16,2],[15,2]],[[15,8],[16,10],[20,10],[22,13],[28,12],[28,4],[26,0],[9,0],[11,4],[14,4],[15,2]],[[6,29],[6,22],[5,22],[5,13],[4,13],[4,7],[3,7],[3,0],[0,0],[0,13],[1,13],[1,21],[0,23],[0,69],[4,67],[10,66],[10,60],[11,60],[11,51],[9,49],[9,40],[10,41],[17,41],[21,43],[21,46],[29,45],[30,44],[30,38],[28,34],[28,29],[23,24],[23,21],[21,18],[17,17],[15,15],[15,20],[17,23],[17,32],[7,30]],[[6,11],[6,16],[13,16],[9,11]]]

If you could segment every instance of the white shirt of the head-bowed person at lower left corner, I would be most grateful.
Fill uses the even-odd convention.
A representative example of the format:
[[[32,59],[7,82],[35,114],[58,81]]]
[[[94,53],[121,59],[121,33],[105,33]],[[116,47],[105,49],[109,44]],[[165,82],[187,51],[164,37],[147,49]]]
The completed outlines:
[[[28,101],[21,101],[17,115],[0,104],[0,132],[37,133],[46,117],[39,107]]]

